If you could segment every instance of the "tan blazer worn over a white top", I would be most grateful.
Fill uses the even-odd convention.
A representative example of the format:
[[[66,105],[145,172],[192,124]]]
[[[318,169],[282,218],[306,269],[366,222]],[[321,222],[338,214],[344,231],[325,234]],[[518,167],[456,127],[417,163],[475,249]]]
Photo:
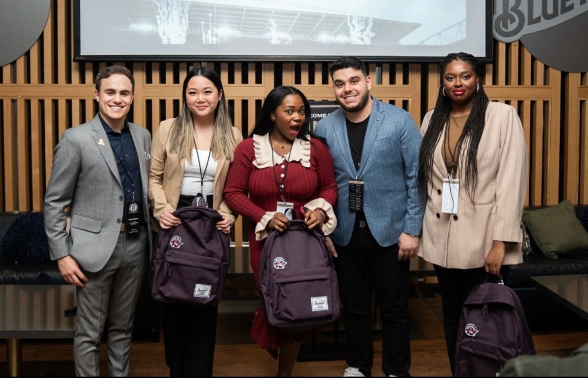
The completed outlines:
[[[165,210],[175,210],[178,207],[182,179],[186,158],[179,158],[169,146],[169,132],[173,120],[169,118],[159,124],[153,135],[151,144],[151,169],[149,170],[149,203],[153,210],[153,229],[159,231],[159,217]],[[241,132],[233,127],[235,141],[239,144],[243,140]],[[213,208],[235,223],[236,215],[223,201],[226,174],[229,171],[230,160],[220,156],[216,164],[215,179],[213,181]]]

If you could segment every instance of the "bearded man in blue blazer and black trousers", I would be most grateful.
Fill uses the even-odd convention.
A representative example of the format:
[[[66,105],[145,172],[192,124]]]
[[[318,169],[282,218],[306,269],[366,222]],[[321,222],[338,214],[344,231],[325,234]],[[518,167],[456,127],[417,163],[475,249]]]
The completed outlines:
[[[330,235],[343,303],[348,368],[370,376],[372,291],[382,318],[382,369],[406,376],[410,367],[409,260],[416,256],[424,205],[417,190],[420,133],[410,114],[370,96],[365,64],[339,58],[329,68],[340,109],[319,121],[339,197]]]

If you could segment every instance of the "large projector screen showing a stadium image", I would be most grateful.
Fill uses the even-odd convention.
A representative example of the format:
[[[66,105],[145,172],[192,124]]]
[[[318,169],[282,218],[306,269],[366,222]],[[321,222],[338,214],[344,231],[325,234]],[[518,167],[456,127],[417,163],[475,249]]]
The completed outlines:
[[[75,0],[74,60],[489,61],[491,22],[492,0]]]

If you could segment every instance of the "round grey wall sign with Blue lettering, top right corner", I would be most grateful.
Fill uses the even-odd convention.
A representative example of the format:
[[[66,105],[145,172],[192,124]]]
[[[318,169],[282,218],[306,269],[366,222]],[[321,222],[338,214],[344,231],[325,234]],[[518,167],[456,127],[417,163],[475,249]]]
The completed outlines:
[[[549,67],[588,71],[588,0],[496,0],[493,31]]]

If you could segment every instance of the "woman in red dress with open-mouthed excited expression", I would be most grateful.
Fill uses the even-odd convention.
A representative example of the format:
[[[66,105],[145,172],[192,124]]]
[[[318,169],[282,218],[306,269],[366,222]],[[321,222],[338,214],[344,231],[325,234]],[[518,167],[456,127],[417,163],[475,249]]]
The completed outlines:
[[[225,201],[249,220],[249,252],[255,282],[265,237],[283,232],[293,218],[325,235],[336,226],[333,160],[325,142],[310,132],[310,105],[294,87],[272,89],[249,138],[235,150],[225,184]],[[278,376],[289,376],[300,341],[318,330],[289,332],[270,326],[262,307],[251,336],[278,358]]]

